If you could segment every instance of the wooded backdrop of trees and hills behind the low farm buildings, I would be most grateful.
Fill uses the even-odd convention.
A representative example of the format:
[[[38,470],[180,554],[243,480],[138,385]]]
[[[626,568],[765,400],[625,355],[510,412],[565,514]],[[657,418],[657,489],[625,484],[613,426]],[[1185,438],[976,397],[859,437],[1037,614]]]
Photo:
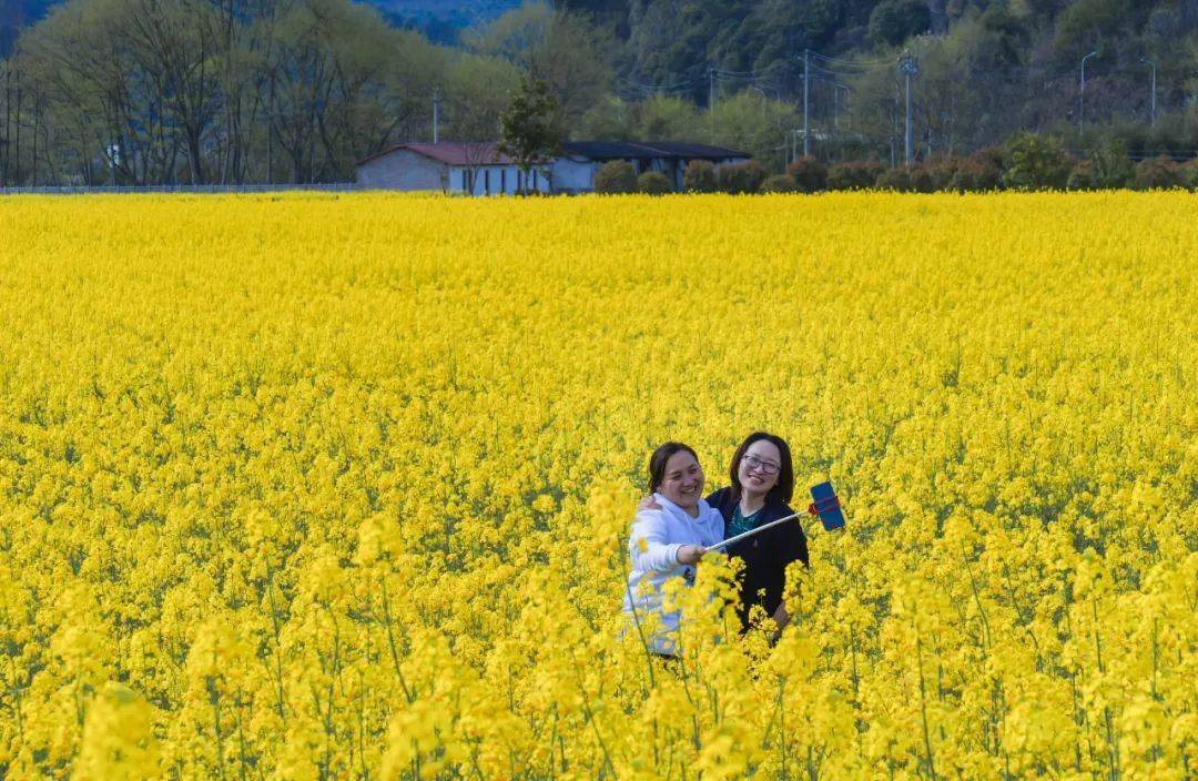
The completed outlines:
[[[575,139],[774,170],[1023,131],[1198,153],[1198,0],[62,0],[30,24],[48,1],[0,0],[0,182],[345,181],[434,116],[496,138],[524,75]]]

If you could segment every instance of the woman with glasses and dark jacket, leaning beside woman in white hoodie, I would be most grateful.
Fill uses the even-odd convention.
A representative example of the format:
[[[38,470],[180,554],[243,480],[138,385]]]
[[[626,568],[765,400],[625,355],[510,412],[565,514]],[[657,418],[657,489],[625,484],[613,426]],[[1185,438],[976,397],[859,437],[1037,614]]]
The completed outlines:
[[[794,465],[782,437],[764,431],[745,437],[732,456],[728,478],[727,488],[707,497],[724,517],[724,539],[794,514],[788,504],[794,494]],[[647,497],[641,509],[660,507],[654,497]],[[738,610],[742,625],[749,628],[750,612],[761,605],[781,631],[791,620],[782,601],[786,568],[792,562],[807,565],[807,538],[798,519],[742,540],[727,553],[745,564]]]

